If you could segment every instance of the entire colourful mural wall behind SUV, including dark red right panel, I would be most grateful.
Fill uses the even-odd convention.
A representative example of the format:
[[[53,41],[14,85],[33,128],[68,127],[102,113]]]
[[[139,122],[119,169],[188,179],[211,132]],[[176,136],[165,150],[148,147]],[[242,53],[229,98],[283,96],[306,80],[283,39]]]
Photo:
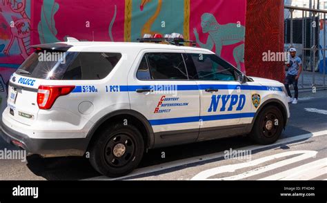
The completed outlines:
[[[277,50],[284,43],[277,39],[283,35],[274,37],[284,29],[279,19],[283,3],[276,1],[0,0],[0,82],[3,86],[28,57],[31,44],[65,41],[66,37],[136,41],[145,33],[172,32],[197,41],[197,46],[212,50],[248,75],[282,81],[273,69],[276,64],[266,67],[258,61],[261,50]],[[1,94],[5,93],[0,86]]]

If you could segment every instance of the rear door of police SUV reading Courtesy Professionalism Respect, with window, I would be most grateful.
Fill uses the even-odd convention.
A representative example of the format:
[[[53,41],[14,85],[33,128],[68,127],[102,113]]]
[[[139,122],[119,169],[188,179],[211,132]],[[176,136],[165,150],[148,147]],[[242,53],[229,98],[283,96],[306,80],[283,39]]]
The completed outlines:
[[[130,108],[148,119],[155,146],[195,142],[199,88],[188,80],[183,50],[142,50],[128,75]]]

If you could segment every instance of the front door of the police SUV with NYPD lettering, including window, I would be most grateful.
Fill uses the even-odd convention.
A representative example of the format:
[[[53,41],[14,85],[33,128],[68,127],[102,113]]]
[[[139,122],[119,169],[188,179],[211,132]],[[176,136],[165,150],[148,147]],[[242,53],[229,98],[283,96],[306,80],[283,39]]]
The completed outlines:
[[[188,66],[194,66],[197,72],[195,81],[200,90],[199,140],[228,137],[230,131],[239,128],[241,117],[246,116],[246,95],[237,72],[214,54],[186,52]]]

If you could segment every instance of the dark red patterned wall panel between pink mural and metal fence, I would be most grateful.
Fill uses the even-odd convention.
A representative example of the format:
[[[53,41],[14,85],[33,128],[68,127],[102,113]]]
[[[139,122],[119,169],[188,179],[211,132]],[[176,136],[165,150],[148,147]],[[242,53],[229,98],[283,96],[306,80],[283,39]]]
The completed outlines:
[[[284,1],[248,0],[246,12],[246,75],[284,83],[283,61],[263,61],[264,52],[284,52]]]

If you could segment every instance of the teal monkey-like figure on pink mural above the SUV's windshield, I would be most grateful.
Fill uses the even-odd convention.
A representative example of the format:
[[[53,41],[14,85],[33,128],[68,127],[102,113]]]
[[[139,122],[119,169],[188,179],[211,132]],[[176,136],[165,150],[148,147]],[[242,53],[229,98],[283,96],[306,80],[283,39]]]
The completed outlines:
[[[207,48],[208,50],[212,50],[215,46],[216,55],[219,57],[221,56],[223,46],[241,43],[233,50],[233,57],[236,61],[237,68],[241,70],[241,63],[244,63],[244,26],[238,25],[237,23],[221,25],[212,14],[206,12],[201,16],[201,27],[202,32],[208,33],[209,36],[206,43],[201,43],[197,28],[194,28],[193,32],[197,43],[201,48]]]

